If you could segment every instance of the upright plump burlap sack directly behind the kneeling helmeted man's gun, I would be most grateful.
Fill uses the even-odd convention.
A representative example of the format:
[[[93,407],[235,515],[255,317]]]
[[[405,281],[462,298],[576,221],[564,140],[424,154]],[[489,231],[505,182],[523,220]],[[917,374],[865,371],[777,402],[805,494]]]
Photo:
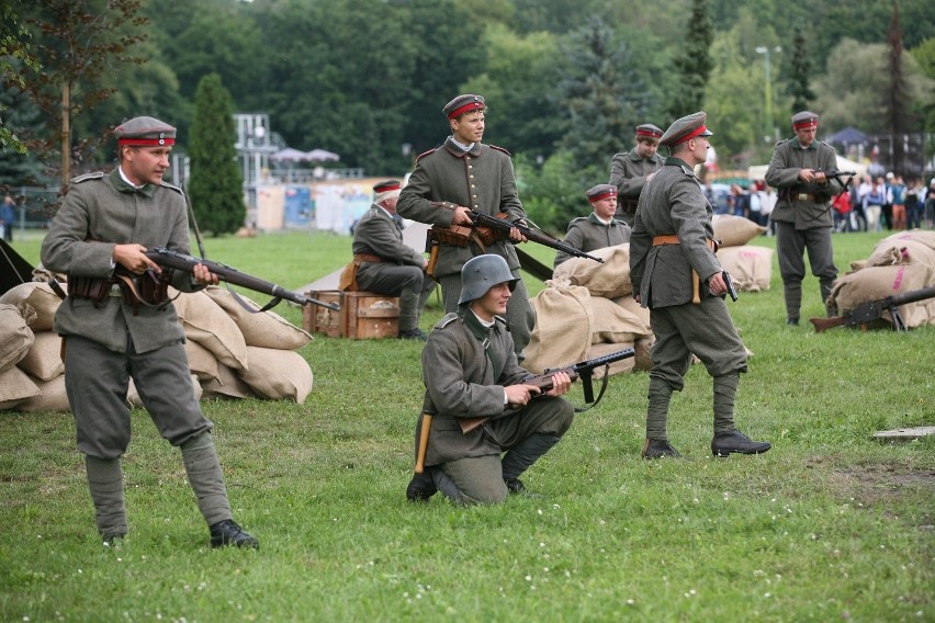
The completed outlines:
[[[586,287],[568,285],[560,279],[547,285],[549,287],[531,299],[536,327],[526,347],[522,366],[533,374],[585,359],[594,331],[594,313]]]

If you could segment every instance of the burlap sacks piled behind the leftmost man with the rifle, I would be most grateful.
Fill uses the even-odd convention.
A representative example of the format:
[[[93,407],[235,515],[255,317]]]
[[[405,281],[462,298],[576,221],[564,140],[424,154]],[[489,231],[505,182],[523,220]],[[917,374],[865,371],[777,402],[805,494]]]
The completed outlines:
[[[224,287],[170,294],[178,295],[173,303],[185,331],[196,398],[305,400],[313,375],[295,351],[312,340],[309,333],[272,312],[247,312]],[[0,296],[0,410],[70,410],[61,339],[53,331],[59,304],[44,282],[24,283]],[[142,406],[132,382],[127,403]]]

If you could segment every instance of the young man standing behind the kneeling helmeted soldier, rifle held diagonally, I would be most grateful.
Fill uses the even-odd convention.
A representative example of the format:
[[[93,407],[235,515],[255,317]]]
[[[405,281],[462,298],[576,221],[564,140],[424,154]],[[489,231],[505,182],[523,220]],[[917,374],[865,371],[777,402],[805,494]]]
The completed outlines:
[[[419,223],[451,227],[471,225],[466,209],[489,215],[506,213],[507,220],[525,219],[509,152],[481,143],[484,136],[484,98],[459,95],[442,112],[451,128],[444,145],[418,157],[409,181],[399,194],[396,211]],[[525,240],[516,229],[509,239],[499,238],[481,246],[470,241],[464,247],[441,242],[432,276],[441,284],[444,310],[458,310],[461,294],[461,267],[482,253],[494,253],[507,261],[517,279],[509,303],[507,320],[518,355],[529,343],[536,314],[529,303],[526,285],[519,279],[519,258],[512,245]]]

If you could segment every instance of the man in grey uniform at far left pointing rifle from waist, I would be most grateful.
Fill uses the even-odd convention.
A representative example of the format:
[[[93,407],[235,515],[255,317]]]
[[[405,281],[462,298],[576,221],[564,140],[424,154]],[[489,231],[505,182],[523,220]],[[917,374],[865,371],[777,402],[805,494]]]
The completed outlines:
[[[162,181],[176,128],[135,117],[114,129],[120,166],[109,174],[75,178],[42,245],[42,262],[68,274],[68,297],[55,315],[65,340],[65,387],[85,454],[98,532],[116,546],[127,532],[121,456],[131,437],[126,406],[133,378],[159,434],[181,449],[189,483],[209,524],[212,547],[258,547],[234,522],[213,427],[194,398],[184,332],[171,302],[134,306],[113,284],[119,268],[136,274],[159,267],[144,252],[167,247],[189,253],[181,190]],[[174,271],[171,285],[194,292],[216,284],[199,264]],[[87,293],[103,293],[90,297]]]

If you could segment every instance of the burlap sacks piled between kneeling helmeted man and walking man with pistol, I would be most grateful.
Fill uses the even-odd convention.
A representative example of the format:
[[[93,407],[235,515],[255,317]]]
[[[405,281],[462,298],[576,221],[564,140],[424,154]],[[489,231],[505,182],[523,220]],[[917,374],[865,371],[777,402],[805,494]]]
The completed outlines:
[[[526,348],[523,367],[541,374],[586,359],[633,348],[635,358],[610,365],[609,373],[650,370],[653,343],[650,312],[633,301],[630,245],[592,251],[604,260],[572,258],[555,268],[547,288],[531,303],[536,328]],[[600,377],[604,369],[596,370]]]

